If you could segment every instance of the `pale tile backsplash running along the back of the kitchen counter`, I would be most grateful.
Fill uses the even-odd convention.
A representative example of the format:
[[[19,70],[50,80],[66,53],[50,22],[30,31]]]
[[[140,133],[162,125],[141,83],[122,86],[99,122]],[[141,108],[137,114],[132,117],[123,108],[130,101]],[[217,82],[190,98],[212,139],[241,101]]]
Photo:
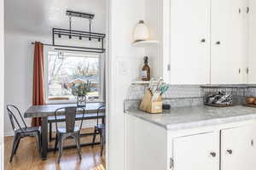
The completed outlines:
[[[212,87],[217,91],[225,89],[228,94],[232,94],[235,105],[244,104],[247,96],[256,96],[256,86],[214,85]],[[125,111],[137,109],[139,107],[147,88],[147,85],[130,86],[126,94]],[[168,91],[163,96],[163,103],[169,104],[172,107],[203,105],[206,88],[209,88],[209,86],[201,88],[200,85],[170,85]]]

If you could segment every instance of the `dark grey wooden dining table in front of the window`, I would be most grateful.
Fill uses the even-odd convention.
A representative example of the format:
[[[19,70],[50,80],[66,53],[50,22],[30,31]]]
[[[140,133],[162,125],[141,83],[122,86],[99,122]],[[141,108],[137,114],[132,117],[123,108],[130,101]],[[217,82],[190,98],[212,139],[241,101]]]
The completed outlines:
[[[104,105],[104,103],[87,103],[83,107],[85,110],[84,119],[86,119],[86,116],[89,114],[95,114],[95,118],[97,118],[96,112],[98,108],[100,108],[102,105]],[[49,145],[48,145],[48,117],[55,116],[55,111],[59,108],[76,107],[76,106],[77,106],[76,104],[32,105],[24,113],[25,118],[34,118],[34,117],[41,118],[41,158],[43,160],[47,159],[48,151],[53,150],[53,149],[49,149]],[[100,112],[99,118],[102,118],[102,121],[103,121],[103,118],[105,118],[104,107],[100,109],[99,112]],[[90,144],[84,144],[84,145],[90,145]]]

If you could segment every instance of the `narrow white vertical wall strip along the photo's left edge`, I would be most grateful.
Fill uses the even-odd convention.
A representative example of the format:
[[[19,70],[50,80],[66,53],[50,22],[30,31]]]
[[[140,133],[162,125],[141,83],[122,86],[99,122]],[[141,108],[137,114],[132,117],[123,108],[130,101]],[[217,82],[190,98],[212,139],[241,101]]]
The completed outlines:
[[[4,61],[4,10],[0,1],[0,170],[3,169],[3,61]]]

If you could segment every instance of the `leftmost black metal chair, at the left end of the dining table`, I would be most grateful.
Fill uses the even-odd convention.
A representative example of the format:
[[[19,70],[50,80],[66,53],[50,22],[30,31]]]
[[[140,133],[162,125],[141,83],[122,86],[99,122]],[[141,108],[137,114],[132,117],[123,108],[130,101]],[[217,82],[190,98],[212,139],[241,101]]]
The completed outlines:
[[[27,127],[26,126],[26,122],[24,121],[23,117],[20,114],[19,109],[15,106],[15,105],[7,105],[7,111],[9,114],[9,120],[11,122],[11,125],[13,127],[13,130],[15,132],[15,138],[14,138],[14,144],[13,144],[13,149],[11,152],[11,156],[9,159],[9,162],[13,161],[13,157],[16,154],[16,151],[18,149],[18,146],[20,144],[20,139],[25,138],[25,137],[31,137],[34,136],[37,139],[37,144],[38,144],[38,150],[39,150],[39,155],[40,150],[41,150],[41,133],[40,133],[40,127]],[[23,123],[21,127],[20,126],[20,122],[18,121],[17,117],[15,116],[15,114],[18,114],[20,116],[20,119]],[[16,127],[16,126],[18,127]]]

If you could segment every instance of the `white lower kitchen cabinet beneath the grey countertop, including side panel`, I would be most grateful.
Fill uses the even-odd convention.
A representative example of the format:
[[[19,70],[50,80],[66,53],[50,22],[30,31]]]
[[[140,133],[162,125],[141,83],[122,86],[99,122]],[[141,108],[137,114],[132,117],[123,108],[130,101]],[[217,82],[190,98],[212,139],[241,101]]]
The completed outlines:
[[[125,170],[255,170],[256,121],[166,130],[125,116]]]

